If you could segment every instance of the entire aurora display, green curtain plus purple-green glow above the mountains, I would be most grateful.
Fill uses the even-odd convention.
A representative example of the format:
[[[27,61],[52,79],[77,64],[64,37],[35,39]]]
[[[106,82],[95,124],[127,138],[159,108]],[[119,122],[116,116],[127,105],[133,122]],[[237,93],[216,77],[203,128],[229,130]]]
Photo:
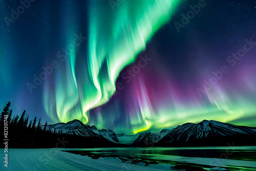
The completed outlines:
[[[129,106],[125,106],[126,113],[118,112],[123,111],[120,110],[123,105],[116,101],[95,115],[91,113],[91,109],[110,100],[121,70],[133,63],[153,34],[169,22],[180,1],[124,0],[114,10],[109,1],[100,3],[103,4],[91,2],[88,8],[88,28],[80,26],[79,16],[76,19],[68,17],[76,10],[74,6],[63,5],[63,8],[69,7],[65,17],[69,18],[69,27],[62,29],[67,29],[63,35],[66,37],[64,47],[68,47],[70,53],[44,85],[44,106],[51,119],[56,122],[79,119],[84,124],[90,121],[98,129],[106,129],[107,125],[116,133],[126,134],[149,129],[159,132],[202,119],[255,125],[256,82],[254,66],[249,59],[243,59],[248,62],[246,69],[239,65],[236,69],[230,68],[225,81],[219,81],[205,98],[200,98],[195,91],[195,82],[203,80],[186,82],[181,89],[172,73],[167,74],[163,67],[156,67],[158,74],[150,81],[141,72],[140,77],[134,77],[129,83],[132,91],[123,97],[129,102]],[[72,49],[69,45],[73,44],[74,35],[83,32],[76,28],[77,25],[89,34],[82,34],[87,39]],[[205,64],[210,70],[209,66],[210,63]],[[205,73],[204,68],[197,70]],[[120,118],[123,120],[118,122]],[[112,121],[115,126],[109,127]]]

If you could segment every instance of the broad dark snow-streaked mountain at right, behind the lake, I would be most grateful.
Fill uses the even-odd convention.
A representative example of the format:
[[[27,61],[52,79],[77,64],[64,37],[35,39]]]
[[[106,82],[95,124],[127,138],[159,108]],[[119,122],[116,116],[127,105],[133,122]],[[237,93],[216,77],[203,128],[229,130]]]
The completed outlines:
[[[159,142],[186,142],[202,138],[237,135],[256,135],[256,130],[247,126],[237,126],[214,120],[203,120],[197,124],[185,123],[179,125],[161,138]]]

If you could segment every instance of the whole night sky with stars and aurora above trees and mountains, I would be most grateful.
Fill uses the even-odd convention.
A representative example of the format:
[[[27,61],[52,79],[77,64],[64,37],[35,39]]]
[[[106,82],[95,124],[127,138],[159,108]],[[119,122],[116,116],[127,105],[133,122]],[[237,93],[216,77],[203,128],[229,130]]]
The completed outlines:
[[[256,126],[255,1],[0,0],[0,16],[0,105],[15,115],[129,135]]]

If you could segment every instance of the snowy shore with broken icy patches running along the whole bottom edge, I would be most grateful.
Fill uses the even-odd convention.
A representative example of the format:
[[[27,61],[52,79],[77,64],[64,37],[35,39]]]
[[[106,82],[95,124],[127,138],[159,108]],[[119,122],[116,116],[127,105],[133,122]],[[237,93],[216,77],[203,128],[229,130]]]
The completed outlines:
[[[1,156],[4,156],[4,149],[1,148]],[[74,150],[79,153],[70,153],[69,151]],[[255,161],[239,161],[239,160],[227,160],[220,159],[222,162],[222,168],[217,166],[207,167],[207,163],[211,158],[198,158],[198,157],[182,157],[177,160],[175,156],[159,156],[150,157],[154,160],[144,159],[129,159],[125,156],[114,157],[98,154],[90,156],[87,154],[80,154],[78,148],[11,148],[8,149],[8,167],[4,166],[4,162],[0,166],[0,170],[27,170],[27,171],[38,171],[38,170],[180,170],[184,166],[187,167],[189,164],[191,167],[194,166],[199,170],[228,170],[223,167],[227,165],[233,166],[246,166],[255,168]],[[97,154],[97,153],[94,153]],[[175,159],[176,158],[176,159]],[[158,161],[173,161],[171,163],[159,163]],[[184,165],[176,165],[174,161],[183,161]],[[133,163],[133,164],[132,164]],[[157,164],[158,163],[158,164]],[[179,162],[178,162],[179,163]],[[201,166],[206,166],[202,168]],[[193,167],[194,167],[193,166]],[[246,169],[247,170],[247,169]],[[248,169],[251,170],[251,169]]]

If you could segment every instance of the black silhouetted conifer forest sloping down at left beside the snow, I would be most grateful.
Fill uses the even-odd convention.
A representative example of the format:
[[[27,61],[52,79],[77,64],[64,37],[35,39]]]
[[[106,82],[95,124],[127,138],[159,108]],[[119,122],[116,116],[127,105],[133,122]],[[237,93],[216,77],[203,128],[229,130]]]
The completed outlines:
[[[33,121],[30,120],[29,125],[26,126],[29,121],[29,116],[26,115],[26,111],[20,116],[13,116],[12,110],[9,111],[10,104],[11,103],[9,102],[1,113],[3,116],[7,115],[7,120],[9,120],[8,135],[10,136],[8,136],[8,138],[10,141],[8,142],[8,148],[52,148],[56,147],[56,144],[59,144],[59,139],[62,140],[64,137],[65,142],[69,143],[66,147],[73,148],[95,147],[98,146],[97,142],[100,142],[100,145],[110,143],[109,141],[102,141],[102,139],[91,139],[84,136],[63,133],[59,128],[57,128],[56,131],[56,127],[54,127],[53,131],[53,129],[51,129],[52,127],[50,127],[51,125],[48,125],[47,121],[44,125],[44,129],[41,130],[41,118],[39,119],[37,126],[36,117]],[[0,144],[0,148],[5,148],[4,143]]]

